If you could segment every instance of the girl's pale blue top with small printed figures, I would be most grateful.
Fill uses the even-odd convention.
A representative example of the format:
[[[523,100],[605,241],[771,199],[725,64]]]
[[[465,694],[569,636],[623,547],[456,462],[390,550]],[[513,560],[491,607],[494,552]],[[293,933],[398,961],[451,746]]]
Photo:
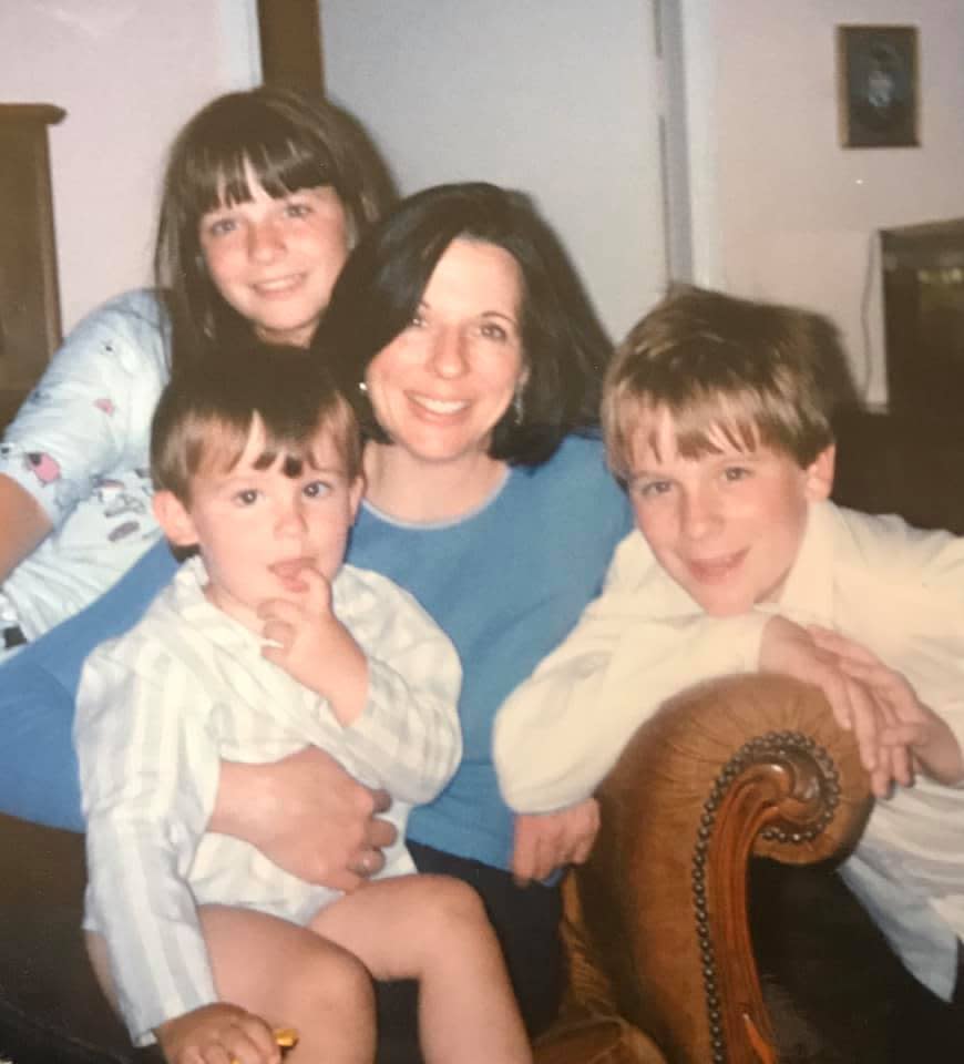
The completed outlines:
[[[53,526],[0,592],[0,617],[29,638],[96,598],[160,539],[147,466],[167,367],[156,298],[127,293],[74,329],[8,428],[0,473]]]

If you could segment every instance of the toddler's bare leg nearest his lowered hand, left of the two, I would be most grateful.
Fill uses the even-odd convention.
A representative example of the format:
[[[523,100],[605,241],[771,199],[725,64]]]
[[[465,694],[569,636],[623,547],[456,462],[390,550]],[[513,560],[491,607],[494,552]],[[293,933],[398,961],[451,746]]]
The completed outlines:
[[[199,914],[221,996],[297,1030],[286,1064],[371,1064],[375,998],[356,956],[265,913],[204,906]]]

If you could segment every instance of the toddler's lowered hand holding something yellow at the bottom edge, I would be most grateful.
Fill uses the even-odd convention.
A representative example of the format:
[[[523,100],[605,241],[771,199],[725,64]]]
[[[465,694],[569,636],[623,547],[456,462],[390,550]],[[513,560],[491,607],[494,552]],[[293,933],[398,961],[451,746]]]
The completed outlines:
[[[225,1002],[186,1012],[154,1033],[168,1064],[280,1064],[281,1060],[264,1020]]]

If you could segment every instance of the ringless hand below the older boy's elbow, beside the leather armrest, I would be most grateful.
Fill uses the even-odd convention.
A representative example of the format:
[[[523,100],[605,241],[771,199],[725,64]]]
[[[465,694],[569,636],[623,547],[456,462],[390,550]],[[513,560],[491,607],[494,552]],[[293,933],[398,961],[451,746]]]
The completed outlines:
[[[599,804],[595,798],[555,812],[520,812],[515,816],[512,874],[524,886],[545,879],[563,864],[582,864],[588,858],[599,830]]]

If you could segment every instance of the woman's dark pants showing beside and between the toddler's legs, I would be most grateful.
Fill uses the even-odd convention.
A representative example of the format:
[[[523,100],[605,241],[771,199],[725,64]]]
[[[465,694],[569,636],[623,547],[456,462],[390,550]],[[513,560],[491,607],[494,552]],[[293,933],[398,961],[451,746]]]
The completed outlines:
[[[482,898],[502,945],[509,976],[530,1034],[555,1019],[563,991],[562,904],[557,888],[532,883],[516,887],[512,876],[479,861],[408,842],[420,872],[454,876]],[[440,943],[444,949],[444,943]],[[379,983],[378,1064],[421,1064],[418,1044],[418,995],[413,982]]]

